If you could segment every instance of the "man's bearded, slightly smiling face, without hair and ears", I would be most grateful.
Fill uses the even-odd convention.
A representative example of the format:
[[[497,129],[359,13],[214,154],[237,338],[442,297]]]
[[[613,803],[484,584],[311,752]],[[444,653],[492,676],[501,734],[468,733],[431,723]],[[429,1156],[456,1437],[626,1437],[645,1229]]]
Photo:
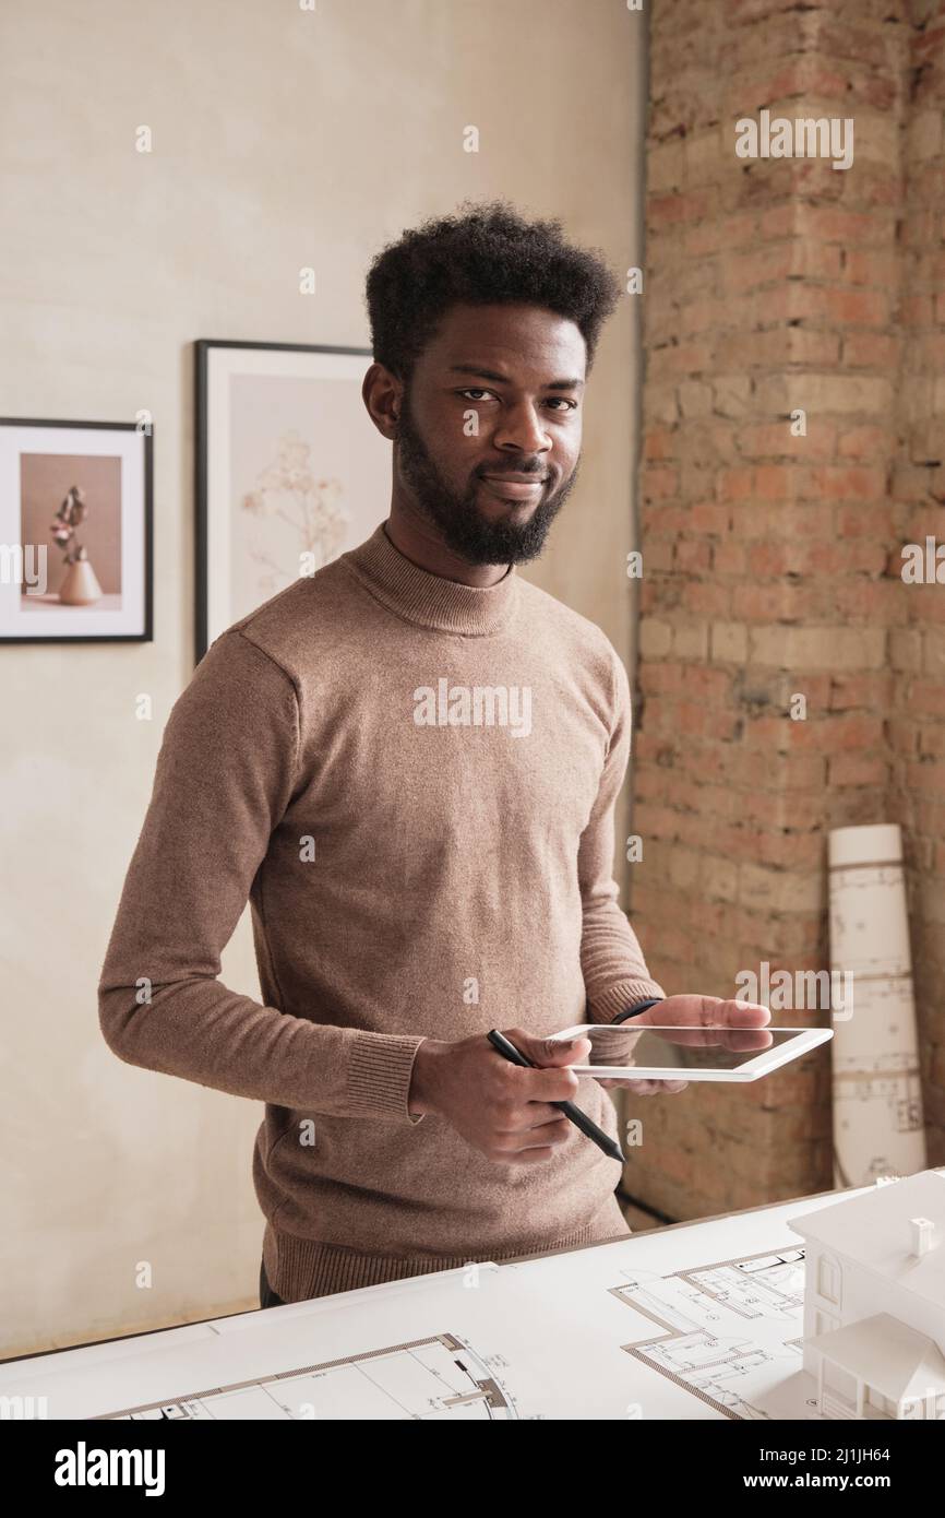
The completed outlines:
[[[542,553],[576,480],[586,360],[581,329],[534,305],[451,307],[417,360],[394,469],[467,563]]]

